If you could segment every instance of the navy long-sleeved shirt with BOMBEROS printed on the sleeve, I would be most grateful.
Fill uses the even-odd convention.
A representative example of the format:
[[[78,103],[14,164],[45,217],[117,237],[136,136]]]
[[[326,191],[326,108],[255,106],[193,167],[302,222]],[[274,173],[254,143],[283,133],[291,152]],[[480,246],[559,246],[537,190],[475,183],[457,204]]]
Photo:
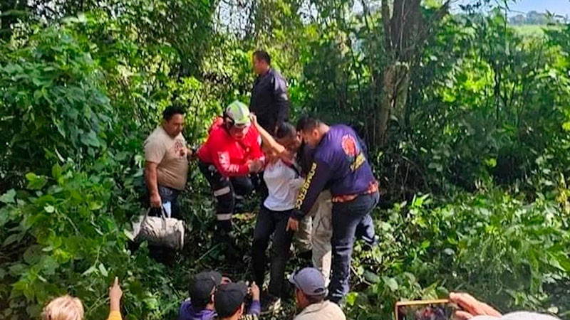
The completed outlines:
[[[318,194],[330,187],[335,196],[366,193],[375,183],[366,146],[358,134],[344,124],[330,127],[323,136],[314,154],[305,183],[296,201],[296,218],[309,213]]]

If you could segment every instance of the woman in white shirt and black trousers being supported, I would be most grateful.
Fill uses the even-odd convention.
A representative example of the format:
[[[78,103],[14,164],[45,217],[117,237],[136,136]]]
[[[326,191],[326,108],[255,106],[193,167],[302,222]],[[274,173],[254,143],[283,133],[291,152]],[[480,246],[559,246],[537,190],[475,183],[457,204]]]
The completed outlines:
[[[295,163],[294,154],[301,144],[296,129],[289,123],[279,124],[275,134],[276,143],[284,146],[291,154],[291,160],[275,154],[266,154],[269,159],[263,178],[269,196],[261,203],[254,230],[252,245],[252,265],[255,282],[264,283],[266,255],[269,239],[273,235],[271,245],[271,270],[268,295],[262,299],[264,311],[275,311],[281,304],[281,289],[284,283],[285,265],[289,259],[289,250],[293,238],[293,230],[286,230],[299,188],[304,183]]]

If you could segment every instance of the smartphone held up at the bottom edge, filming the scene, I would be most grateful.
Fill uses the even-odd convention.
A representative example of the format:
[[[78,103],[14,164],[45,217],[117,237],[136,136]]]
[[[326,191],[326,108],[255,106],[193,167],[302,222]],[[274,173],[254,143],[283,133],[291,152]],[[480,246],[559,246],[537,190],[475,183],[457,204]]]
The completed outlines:
[[[447,299],[396,302],[395,320],[451,320],[457,306]]]

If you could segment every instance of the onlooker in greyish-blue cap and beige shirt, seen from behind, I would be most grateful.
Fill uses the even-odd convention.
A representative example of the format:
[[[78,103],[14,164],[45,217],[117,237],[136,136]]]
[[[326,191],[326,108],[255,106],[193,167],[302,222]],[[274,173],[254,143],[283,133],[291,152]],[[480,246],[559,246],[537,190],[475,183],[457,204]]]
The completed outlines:
[[[295,286],[295,300],[301,309],[293,320],[346,320],[338,304],[325,300],[325,279],[316,268],[300,270],[289,282]]]

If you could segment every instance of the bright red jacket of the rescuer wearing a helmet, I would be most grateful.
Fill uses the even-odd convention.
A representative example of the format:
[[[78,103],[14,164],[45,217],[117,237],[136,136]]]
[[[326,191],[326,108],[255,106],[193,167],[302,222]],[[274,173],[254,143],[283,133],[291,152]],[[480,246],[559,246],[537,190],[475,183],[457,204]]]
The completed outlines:
[[[261,137],[254,126],[250,126],[243,139],[234,139],[224,127],[224,120],[214,120],[208,139],[198,149],[198,159],[214,164],[222,176],[247,176],[247,163],[264,159],[261,151]]]

